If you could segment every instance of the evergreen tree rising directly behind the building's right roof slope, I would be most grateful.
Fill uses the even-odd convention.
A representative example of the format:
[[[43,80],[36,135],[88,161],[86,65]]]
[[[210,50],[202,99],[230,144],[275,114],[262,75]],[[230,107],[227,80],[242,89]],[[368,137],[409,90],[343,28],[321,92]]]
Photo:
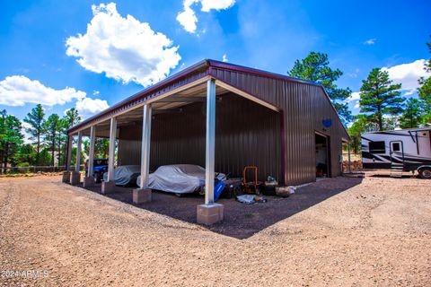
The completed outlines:
[[[323,53],[311,52],[302,60],[296,60],[294,67],[287,72],[291,77],[300,78],[314,83],[320,83],[330,96],[330,100],[339,114],[339,117],[346,124],[352,120],[350,109],[344,100],[350,97],[352,91],[341,89],[335,83],[343,74],[339,69],[330,68],[328,55]]]

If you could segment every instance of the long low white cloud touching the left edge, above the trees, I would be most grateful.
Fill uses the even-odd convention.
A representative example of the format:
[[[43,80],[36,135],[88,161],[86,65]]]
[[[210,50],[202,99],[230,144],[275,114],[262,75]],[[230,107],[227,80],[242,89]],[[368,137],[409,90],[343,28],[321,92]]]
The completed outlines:
[[[55,90],[23,75],[8,76],[0,82],[0,105],[4,106],[20,107],[26,103],[64,105],[72,100],[82,100],[85,96],[84,91],[69,87]]]

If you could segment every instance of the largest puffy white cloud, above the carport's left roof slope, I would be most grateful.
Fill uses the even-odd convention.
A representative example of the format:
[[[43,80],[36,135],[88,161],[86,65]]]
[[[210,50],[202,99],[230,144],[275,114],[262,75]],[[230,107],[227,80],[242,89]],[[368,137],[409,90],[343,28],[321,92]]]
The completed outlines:
[[[66,39],[66,55],[95,73],[147,86],[165,78],[180,62],[179,47],[147,22],[122,17],[115,3],[92,5],[84,35]]]

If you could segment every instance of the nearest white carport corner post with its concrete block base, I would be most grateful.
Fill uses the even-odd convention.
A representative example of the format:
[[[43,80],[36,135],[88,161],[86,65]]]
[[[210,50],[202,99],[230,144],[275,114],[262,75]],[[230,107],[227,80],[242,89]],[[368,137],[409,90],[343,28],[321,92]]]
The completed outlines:
[[[205,204],[198,205],[198,223],[210,225],[223,221],[224,206],[214,202],[216,166],[216,81],[207,82],[207,145],[205,165]]]

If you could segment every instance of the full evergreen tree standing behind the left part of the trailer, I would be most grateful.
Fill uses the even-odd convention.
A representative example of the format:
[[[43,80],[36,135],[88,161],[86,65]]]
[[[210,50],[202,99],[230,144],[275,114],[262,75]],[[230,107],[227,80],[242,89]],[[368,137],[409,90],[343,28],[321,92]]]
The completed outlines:
[[[362,81],[359,106],[371,122],[383,130],[384,115],[399,115],[404,99],[400,96],[401,84],[393,84],[387,71],[374,68]]]

